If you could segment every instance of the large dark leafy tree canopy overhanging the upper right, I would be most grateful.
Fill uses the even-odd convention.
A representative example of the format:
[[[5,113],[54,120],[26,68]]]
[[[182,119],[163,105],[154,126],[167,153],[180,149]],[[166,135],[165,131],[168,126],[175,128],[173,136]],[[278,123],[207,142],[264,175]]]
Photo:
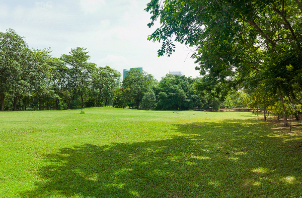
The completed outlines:
[[[299,0],[153,0],[145,10],[152,14],[149,27],[160,18],[161,27],[148,37],[163,41],[159,56],[175,50],[173,39],[196,47],[192,57],[211,85],[206,90],[238,89],[253,78],[280,98],[294,97],[289,83],[302,87]]]

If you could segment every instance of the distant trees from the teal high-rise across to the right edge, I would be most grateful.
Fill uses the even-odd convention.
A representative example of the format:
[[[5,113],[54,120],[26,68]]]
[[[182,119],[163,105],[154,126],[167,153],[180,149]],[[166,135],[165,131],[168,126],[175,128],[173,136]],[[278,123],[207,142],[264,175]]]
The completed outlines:
[[[255,112],[264,112],[264,119],[268,113],[277,115],[295,116],[299,119],[302,111],[300,98],[296,103],[289,97],[280,101],[278,95],[267,94],[267,89],[258,86],[254,89],[228,89],[223,87],[217,92],[206,90],[207,84],[201,77],[191,78],[186,76],[167,74],[159,82],[152,75],[131,69],[123,80],[123,87],[115,89],[113,106],[117,108],[130,107],[134,109],[156,110],[189,110],[219,108],[251,108]],[[218,87],[217,87],[218,88]]]

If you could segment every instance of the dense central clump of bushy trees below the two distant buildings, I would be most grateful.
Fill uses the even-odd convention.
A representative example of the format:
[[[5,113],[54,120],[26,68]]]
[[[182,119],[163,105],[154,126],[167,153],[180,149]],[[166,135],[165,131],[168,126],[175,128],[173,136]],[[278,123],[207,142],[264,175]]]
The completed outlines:
[[[219,101],[196,89],[199,78],[167,74],[159,82],[151,74],[131,69],[115,90],[113,107],[155,110],[214,108]],[[201,94],[203,93],[203,95]]]

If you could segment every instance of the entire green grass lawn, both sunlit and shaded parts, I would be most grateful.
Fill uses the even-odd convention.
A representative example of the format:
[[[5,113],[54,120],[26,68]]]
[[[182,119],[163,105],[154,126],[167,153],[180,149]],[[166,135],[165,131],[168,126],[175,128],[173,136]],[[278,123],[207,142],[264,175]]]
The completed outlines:
[[[246,112],[0,112],[0,197],[302,197],[302,131]]]

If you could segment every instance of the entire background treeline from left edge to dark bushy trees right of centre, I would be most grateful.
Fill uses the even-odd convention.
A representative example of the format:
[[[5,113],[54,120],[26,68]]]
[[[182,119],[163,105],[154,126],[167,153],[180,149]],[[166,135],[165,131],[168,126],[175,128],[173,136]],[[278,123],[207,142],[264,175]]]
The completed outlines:
[[[219,102],[195,88],[199,78],[166,75],[158,82],[151,74],[130,70],[121,74],[88,62],[86,49],[71,49],[60,58],[50,49],[30,49],[10,29],[0,33],[1,110],[67,110],[113,105],[116,108],[189,110],[219,108]]]

